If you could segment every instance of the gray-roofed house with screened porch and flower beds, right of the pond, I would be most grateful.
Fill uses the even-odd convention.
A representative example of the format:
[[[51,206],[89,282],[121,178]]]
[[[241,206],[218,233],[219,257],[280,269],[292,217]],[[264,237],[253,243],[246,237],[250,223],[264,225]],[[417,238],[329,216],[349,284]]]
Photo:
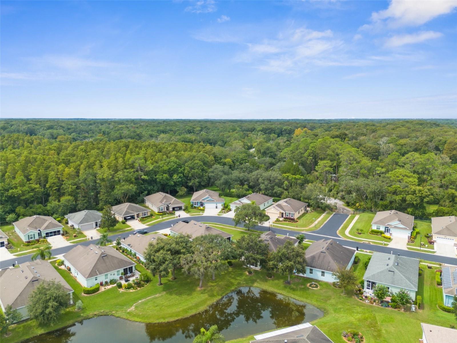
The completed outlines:
[[[383,284],[392,293],[404,289],[414,300],[419,280],[419,260],[374,252],[363,279],[365,280],[363,289],[368,295],[373,294],[373,288],[377,284]]]

